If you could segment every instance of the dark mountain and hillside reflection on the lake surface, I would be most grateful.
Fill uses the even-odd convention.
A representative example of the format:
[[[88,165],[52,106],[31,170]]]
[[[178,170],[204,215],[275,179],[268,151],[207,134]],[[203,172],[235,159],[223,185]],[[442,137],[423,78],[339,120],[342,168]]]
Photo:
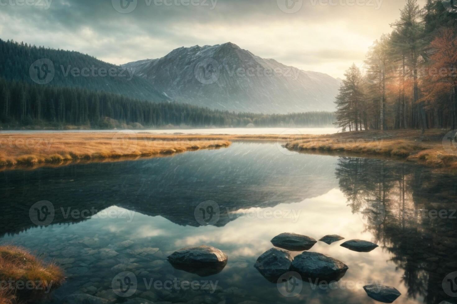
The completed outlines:
[[[202,225],[194,214],[196,207],[211,200],[220,210],[214,225],[223,227],[239,217],[239,210],[301,201],[335,187],[334,159],[314,156],[296,164],[300,155],[284,157],[277,150],[263,149],[271,145],[239,144],[235,152],[221,149],[117,164],[1,172],[0,196],[6,206],[0,214],[0,232],[37,226],[29,219],[29,209],[42,200],[53,204],[53,224],[84,221],[85,215],[115,205],[193,227]]]

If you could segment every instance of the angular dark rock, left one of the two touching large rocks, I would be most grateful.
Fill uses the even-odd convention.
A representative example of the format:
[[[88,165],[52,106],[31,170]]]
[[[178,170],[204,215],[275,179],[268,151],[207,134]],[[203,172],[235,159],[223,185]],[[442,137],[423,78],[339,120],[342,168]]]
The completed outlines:
[[[271,248],[262,253],[254,267],[267,280],[276,283],[279,277],[289,271],[291,264],[292,257],[288,251]]]

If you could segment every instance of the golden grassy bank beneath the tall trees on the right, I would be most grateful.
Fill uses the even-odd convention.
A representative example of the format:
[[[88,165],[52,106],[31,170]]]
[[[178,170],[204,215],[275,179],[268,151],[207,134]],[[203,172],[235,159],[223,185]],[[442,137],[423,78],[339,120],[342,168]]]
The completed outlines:
[[[457,149],[448,130],[360,131],[331,135],[303,135],[287,142],[286,148],[300,152],[335,152],[345,155],[395,157],[435,168],[457,169]]]

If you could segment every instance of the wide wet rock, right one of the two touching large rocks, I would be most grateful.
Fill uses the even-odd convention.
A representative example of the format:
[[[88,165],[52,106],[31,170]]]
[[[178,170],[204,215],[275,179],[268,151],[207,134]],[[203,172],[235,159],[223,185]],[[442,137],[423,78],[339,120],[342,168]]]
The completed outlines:
[[[291,270],[305,278],[336,281],[345,275],[348,268],[345,263],[322,253],[303,252],[293,259]]]

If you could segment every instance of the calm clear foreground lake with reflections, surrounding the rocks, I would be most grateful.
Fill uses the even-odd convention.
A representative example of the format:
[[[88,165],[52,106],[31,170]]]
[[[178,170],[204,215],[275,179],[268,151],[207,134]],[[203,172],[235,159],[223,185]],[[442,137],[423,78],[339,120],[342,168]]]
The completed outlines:
[[[373,282],[398,289],[395,303],[457,299],[457,176],[420,165],[234,143],[165,158],[4,171],[0,188],[0,242],[65,269],[66,283],[47,303],[84,293],[112,303],[360,304],[375,303],[362,289]],[[207,204],[219,210],[210,222],[199,213]],[[329,285],[303,279],[293,290],[268,281],[253,265],[282,232],[345,237],[309,250],[348,265],[345,276]],[[340,246],[351,239],[379,247]],[[166,260],[200,245],[228,255],[221,272],[199,276]],[[128,283],[127,293],[118,282]]]

